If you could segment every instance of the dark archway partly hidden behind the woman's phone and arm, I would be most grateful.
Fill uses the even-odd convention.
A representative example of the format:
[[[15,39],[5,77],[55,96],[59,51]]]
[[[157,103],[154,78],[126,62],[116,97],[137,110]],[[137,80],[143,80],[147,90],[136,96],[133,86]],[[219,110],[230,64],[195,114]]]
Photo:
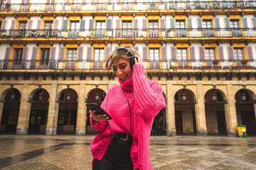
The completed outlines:
[[[87,103],[97,103],[98,106],[104,101],[106,92],[102,89],[92,89],[87,96]],[[90,125],[90,113],[87,109],[87,122],[86,122],[86,134],[87,133],[96,133],[96,131]]]

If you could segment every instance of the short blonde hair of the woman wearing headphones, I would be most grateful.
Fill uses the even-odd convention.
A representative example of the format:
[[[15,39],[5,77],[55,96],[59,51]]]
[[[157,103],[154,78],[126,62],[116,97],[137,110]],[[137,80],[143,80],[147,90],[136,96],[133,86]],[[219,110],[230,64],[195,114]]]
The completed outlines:
[[[125,46],[125,47],[129,47],[129,46]],[[114,50],[107,59],[107,62],[105,64],[105,69],[107,69],[110,72],[112,65],[114,64],[114,62],[117,62],[117,60],[119,60],[119,58],[126,59],[129,61],[132,60],[132,57],[142,58],[139,55],[139,52],[137,52],[133,48],[130,48],[130,49],[134,52],[134,54],[136,56],[132,56],[132,54],[130,52],[128,52],[127,50],[124,50],[124,49]]]

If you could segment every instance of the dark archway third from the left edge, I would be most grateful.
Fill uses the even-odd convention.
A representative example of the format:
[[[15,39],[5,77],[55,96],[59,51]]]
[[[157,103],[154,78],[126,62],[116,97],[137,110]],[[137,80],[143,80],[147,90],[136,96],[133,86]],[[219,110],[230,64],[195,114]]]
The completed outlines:
[[[57,134],[75,133],[78,113],[78,94],[73,89],[60,92]]]

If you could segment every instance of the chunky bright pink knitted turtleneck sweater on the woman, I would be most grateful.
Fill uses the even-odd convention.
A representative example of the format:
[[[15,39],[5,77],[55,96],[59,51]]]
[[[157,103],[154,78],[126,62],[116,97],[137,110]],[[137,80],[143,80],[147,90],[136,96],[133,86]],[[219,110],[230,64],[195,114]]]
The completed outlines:
[[[152,169],[149,159],[149,138],[154,117],[166,105],[161,85],[157,81],[150,81],[145,77],[142,64],[135,64],[133,74],[127,81],[112,86],[101,107],[112,117],[110,123],[112,137],[116,132],[132,132],[131,149],[134,169]],[[121,87],[122,86],[122,87]],[[124,90],[122,90],[124,89]],[[130,129],[130,111],[132,109],[132,130]],[[102,159],[111,142],[110,128],[106,121],[94,124],[90,118],[92,128],[100,133],[92,140],[91,151],[93,159]]]

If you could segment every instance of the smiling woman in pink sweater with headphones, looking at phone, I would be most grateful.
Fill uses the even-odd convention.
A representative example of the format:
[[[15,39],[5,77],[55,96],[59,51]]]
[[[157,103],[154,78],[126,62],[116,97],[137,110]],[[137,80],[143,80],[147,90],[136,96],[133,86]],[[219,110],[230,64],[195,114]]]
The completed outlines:
[[[129,47],[114,50],[106,69],[114,70],[120,84],[112,86],[101,108],[111,117],[90,110],[92,169],[152,169],[149,138],[154,117],[166,105],[161,85],[145,77],[142,57]]]

